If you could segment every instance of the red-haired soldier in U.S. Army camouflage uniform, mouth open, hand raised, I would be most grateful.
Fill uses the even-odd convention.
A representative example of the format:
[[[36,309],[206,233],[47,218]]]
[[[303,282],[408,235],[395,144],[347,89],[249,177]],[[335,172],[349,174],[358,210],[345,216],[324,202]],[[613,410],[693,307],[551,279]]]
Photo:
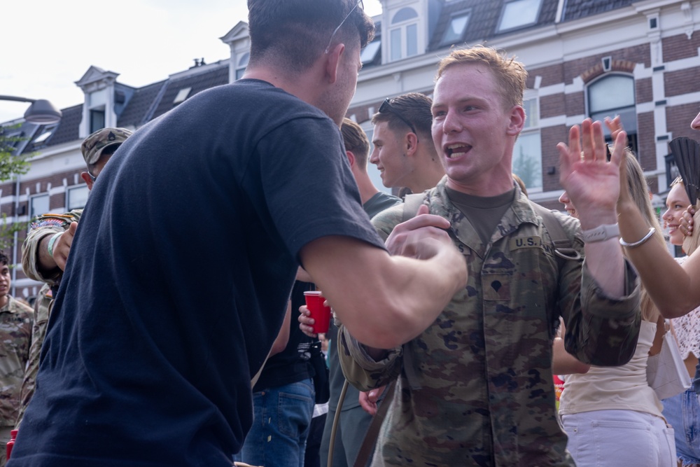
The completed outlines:
[[[585,262],[555,255],[542,217],[514,186],[525,80],[521,64],[481,46],[456,50],[440,64],[433,139],[447,176],[423,194],[428,209],[420,212],[449,220],[468,284],[402,347],[367,347],[342,329],[339,356],[352,384],[367,390],[397,379],[373,466],[573,466],[552,383],[559,316],[566,347],[581,361],[620,365],[636,347],[636,274],[615,235],[590,235],[615,222],[619,184],[601,186],[612,203],[580,223],[553,213]],[[584,123],[587,154],[604,143],[599,126],[594,140],[593,126]],[[421,218],[403,217],[399,206],[372,219],[392,253]]]

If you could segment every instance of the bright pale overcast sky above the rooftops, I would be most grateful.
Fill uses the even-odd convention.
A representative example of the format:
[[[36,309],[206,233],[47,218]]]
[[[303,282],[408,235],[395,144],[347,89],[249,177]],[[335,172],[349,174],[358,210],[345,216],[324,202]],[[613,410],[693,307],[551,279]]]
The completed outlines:
[[[379,0],[365,0],[369,15]],[[141,87],[188,69],[194,59],[228,59],[219,39],[248,20],[246,0],[6,0],[1,8],[0,95],[81,104],[75,85],[91,65]],[[0,123],[29,104],[0,101]]]

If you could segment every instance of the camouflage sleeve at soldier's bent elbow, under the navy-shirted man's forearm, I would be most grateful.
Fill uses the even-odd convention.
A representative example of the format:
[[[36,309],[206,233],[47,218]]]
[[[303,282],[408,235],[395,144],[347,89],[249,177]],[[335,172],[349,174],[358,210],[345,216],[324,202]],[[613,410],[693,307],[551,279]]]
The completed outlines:
[[[381,361],[374,361],[345,326],[338,330],[338,358],[343,374],[350,384],[360,391],[384,386],[400,375],[402,365],[402,347],[388,351]]]

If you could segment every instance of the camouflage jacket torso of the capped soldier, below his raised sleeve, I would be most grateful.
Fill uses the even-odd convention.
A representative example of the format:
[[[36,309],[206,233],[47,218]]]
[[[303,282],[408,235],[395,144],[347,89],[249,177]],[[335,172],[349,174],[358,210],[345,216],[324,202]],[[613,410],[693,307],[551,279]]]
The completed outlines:
[[[34,326],[31,327],[31,347],[29,347],[29,361],[25,369],[25,377],[22,379],[22,389],[20,390],[20,411],[17,416],[16,427],[20,426],[22,417],[25,416],[25,410],[31,396],[34,396],[36,387],[36,373],[39,370],[39,355],[41,354],[41,344],[46,337],[46,327],[48,325],[48,316],[53,307],[53,293],[51,286],[44,284],[34,302]]]

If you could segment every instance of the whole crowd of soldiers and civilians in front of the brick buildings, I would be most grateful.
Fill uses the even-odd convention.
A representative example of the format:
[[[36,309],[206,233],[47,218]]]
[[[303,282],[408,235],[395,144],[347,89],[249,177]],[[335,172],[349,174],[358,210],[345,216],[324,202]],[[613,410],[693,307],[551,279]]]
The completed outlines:
[[[671,321],[696,377],[700,260],[668,253],[619,119],[610,145],[601,122],[570,128],[570,216],[549,211],[512,174],[523,64],[452,50],[433,99],[379,107],[370,152],[344,118],[361,2],[248,7],[241,80],[83,141],[87,206],[23,245],[33,314],[0,255],[8,465],[699,465],[700,379],[661,401],[645,367]],[[673,244],[693,230],[682,183]]]

